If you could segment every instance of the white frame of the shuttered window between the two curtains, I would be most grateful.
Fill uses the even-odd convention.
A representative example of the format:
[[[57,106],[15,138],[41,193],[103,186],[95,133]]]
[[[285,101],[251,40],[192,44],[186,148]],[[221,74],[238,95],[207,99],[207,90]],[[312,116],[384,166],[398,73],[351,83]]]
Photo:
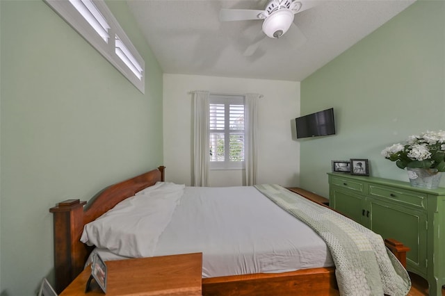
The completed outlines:
[[[229,138],[230,135],[230,126],[226,124],[229,122],[229,106],[230,105],[243,105],[244,114],[245,114],[245,96],[243,95],[235,95],[235,94],[210,94],[209,96],[209,110],[211,104],[224,104],[225,105],[225,129],[222,130],[211,130],[210,122],[209,122],[209,142],[211,133],[224,133],[225,139]],[[246,126],[244,122],[244,137],[243,137],[243,147],[245,148],[245,131]],[[233,133],[233,130],[232,130]],[[225,140],[225,161],[210,161],[209,155],[209,168],[210,170],[244,170],[245,169],[245,161],[230,161],[229,159],[229,141]],[[245,154],[244,154],[245,157]],[[245,158],[244,158],[245,159]]]

